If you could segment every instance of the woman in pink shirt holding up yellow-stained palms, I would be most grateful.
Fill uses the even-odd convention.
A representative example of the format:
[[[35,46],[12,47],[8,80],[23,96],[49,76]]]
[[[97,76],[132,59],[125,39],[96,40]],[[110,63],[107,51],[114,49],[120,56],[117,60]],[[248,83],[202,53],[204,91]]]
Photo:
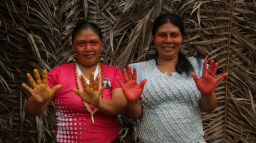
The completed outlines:
[[[98,62],[101,49],[99,27],[79,23],[72,35],[74,62],[49,73],[44,70],[42,81],[36,69],[36,81],[28,73],[33,89],[22,84],[31,94],[25,106],[27,115],[38,116],[54,102],[57,142],[118,142],[116,115],[125,113],[127,102],[116,77],[123,82],[124,77],[116,67]]]

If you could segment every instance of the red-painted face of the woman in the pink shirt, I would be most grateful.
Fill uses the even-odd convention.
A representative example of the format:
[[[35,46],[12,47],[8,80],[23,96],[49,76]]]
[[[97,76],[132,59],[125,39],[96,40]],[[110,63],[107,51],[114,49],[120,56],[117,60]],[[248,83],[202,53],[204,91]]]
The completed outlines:
[[[102,41],[92,29],[84,29],[77,33],[72,44],[72,51],[76,53],[77,60],[87,66],[98,61]]]

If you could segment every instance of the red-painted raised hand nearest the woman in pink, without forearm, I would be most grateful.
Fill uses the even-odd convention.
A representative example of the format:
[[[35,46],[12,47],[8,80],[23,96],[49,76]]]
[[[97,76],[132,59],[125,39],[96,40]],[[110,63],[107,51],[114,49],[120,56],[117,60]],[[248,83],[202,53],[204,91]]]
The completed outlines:
[[[119,77],[117,77],[117,81],[121,85],[126,99],[129,102],[133,102],[134,100],[138,100],[140,98],[143,91],[143,87],[147,80],[143,79],[140,82],[140,85],[138,85],[136,68],[133,68],[133,74],[132,74],[131,66],[128,65],[127,71],[126,69],[123,70],[125,84],[121,81]]]

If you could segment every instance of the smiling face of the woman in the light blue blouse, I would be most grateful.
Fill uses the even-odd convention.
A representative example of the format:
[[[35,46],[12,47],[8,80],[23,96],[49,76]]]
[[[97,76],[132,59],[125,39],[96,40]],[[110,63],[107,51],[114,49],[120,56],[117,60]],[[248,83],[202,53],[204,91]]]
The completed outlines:
[[[182,43],[182,35],[179,27],[167,22],[158,27],[154,43],[158,52],[158,58],[171,60],[178,56]]]

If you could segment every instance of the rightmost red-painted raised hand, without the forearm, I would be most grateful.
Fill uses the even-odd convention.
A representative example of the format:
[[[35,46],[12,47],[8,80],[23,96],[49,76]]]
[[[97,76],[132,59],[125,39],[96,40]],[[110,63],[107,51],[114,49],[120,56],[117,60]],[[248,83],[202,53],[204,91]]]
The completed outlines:
[[[211,60],[210,64],[209,64],[208,71],[207,71],[207,68],[206,68],[207,62],[204,61],[204,63],[203,63],[203,75],[200,79],[198,79],[196,73],[191,72],[191,75],[192,75],[192,77],[194,78],[194,80],[196,82],[197,89],[205,95],[210,95],[213,92],[217,83],[221,79],[225,78],[226,75],[227,75],[226,73],[224,73],[220,77],[215,79],[215,74],[216,74],[218,65],[219,65],[218,63],[214,64],[214,60]]]

